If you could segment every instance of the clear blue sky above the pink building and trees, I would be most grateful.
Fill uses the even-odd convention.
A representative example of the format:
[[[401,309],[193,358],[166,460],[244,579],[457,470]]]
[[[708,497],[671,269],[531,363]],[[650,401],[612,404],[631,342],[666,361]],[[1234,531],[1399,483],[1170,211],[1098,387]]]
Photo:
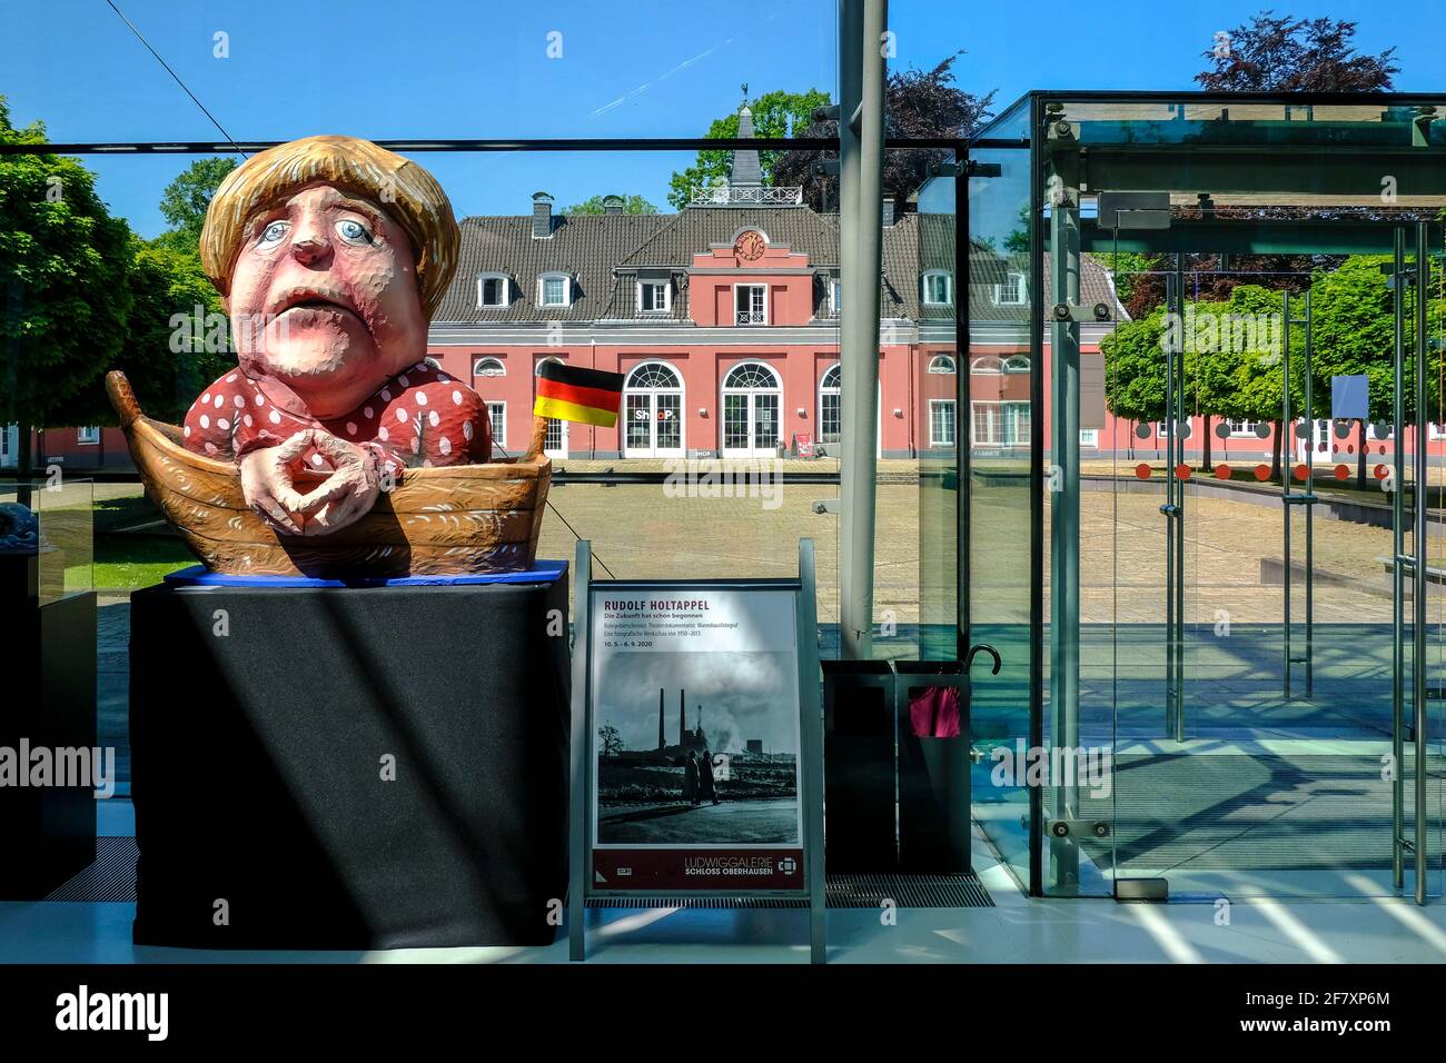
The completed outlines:
[[[739,84],[837,84],[836,0],[116,0],[231,136],[393,137],[698,136],[736,107]],[[959,82],[998,90],[1189,90],[1199,54],[1261,0],[1089,6],[894,0],[899,67],[963,48]],[[1446,90],[1443,0],[1314,0],[1277,12],[1361,23],[1358,46],[1397,46],[1397,88]],[[1050,12],[1048,22],[1043,17]],[[1061,42],[1050,43],[1057,30]],[[215,33],[228,58],[217,58]],[[561,56],[549,58],[549,33]],[[12,119],[52,140],[213,140],[215,127],[132,36],[106,0],[0,0],[0,93]],[[557,39],[554,38],[554,43]],[[555,48],[554,48],[555,51]],[[665,205],[687,155],[427,155],[458,215],[526,213],[641,192]],[[87,161],[101,195],[145,236],[178,156]]]

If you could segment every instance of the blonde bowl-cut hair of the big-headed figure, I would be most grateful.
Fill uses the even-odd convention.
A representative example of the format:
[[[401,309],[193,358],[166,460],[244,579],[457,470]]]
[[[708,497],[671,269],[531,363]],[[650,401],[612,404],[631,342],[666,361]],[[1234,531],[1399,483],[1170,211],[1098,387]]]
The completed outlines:
[[[252,215],[318,182],[370,200],[402,227],[416,256],[416,288],[429,321],[457,270],[461,243],[447,192],[411,159],[350,136],[308,136],[278,145],[227,174],[201,229],[201,266],[215,289],[230,294],[231,269]]]

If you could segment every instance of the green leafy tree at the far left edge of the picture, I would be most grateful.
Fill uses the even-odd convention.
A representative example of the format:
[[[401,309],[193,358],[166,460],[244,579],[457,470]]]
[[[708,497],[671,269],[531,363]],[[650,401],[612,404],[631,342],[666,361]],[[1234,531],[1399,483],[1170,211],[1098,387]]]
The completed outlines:
[[[14,129],[0,97],[0,140],[45,143],[45,126]],[[126,343],[132,234],[95,194],[95,175],[51,153],[0,156],[0,424],[95,424],[95,382]]]

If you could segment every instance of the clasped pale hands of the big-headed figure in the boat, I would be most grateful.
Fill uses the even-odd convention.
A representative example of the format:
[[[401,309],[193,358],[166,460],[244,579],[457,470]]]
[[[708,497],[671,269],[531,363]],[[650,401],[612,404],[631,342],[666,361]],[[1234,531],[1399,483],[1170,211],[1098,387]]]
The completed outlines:
[[[314,450],[331,474],[308,495],[292,486],[292,463]],[[331,432],[308,428],[279,447],[241,458],[241,490],[253,509],[292,535],[325,535],[364,516],[382,490],[376,460]]]

